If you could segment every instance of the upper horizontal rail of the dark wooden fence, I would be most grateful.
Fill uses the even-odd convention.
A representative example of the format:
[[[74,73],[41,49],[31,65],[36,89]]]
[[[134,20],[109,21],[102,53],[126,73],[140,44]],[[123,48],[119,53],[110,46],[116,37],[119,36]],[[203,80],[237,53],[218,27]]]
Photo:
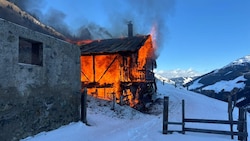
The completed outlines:
[[[184,119],[184,122],[197,122],[197,123],[217,123],[217,124],[238,124],[242,121],[228,121],[228,120],[211,120],[211,119]]]

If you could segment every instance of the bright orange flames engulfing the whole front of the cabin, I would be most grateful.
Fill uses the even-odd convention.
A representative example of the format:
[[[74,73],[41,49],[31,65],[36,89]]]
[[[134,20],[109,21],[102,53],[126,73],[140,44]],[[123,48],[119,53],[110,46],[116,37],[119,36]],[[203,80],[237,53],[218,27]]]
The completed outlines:
[[[127,97],[132,107],[139,102],[140,88],[133,91],[128,87],[146,82],[147,69],[152,68],[154,50],[150,35],[138,52],[127,56],[119,53],[81,56],[81,81],[89,87],[90,95],[111,100],[115,93],[117,102],[121,102],[121,97]]]

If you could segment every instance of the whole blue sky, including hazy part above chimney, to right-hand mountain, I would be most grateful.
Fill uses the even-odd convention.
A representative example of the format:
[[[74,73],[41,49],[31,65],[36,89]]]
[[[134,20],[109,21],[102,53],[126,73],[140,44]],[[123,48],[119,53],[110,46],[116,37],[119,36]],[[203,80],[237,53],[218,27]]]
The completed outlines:
[[[132,20],[135,33],[160,33],[157,71],[199,74],[250,54],[249,0],[46,0],[43,12],[57,9],[70,30],[95,23],[124,33]],[[121,36],[121,35],[120,35]]]

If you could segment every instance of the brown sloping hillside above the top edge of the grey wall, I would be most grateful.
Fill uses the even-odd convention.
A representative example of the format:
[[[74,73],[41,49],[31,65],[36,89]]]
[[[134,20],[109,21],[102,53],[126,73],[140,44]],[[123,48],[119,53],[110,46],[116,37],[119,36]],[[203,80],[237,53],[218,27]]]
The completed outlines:
[[[34,31],[48,34],[60,39],[66,39],[64,35],[57,32],[55,29],[41,23],[34,16],[6,0],[0,0],[0,18],[27,27]]]

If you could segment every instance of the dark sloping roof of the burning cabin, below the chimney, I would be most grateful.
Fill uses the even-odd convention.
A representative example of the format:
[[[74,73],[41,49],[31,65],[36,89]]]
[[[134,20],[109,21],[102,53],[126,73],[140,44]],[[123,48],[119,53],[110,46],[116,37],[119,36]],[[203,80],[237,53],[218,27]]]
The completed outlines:
[[[127,38],[95,40],[89,44],[81,45],[81,55],[114,54],[118,52],[135,52],[144,45],[150,35],[133,36]]]

